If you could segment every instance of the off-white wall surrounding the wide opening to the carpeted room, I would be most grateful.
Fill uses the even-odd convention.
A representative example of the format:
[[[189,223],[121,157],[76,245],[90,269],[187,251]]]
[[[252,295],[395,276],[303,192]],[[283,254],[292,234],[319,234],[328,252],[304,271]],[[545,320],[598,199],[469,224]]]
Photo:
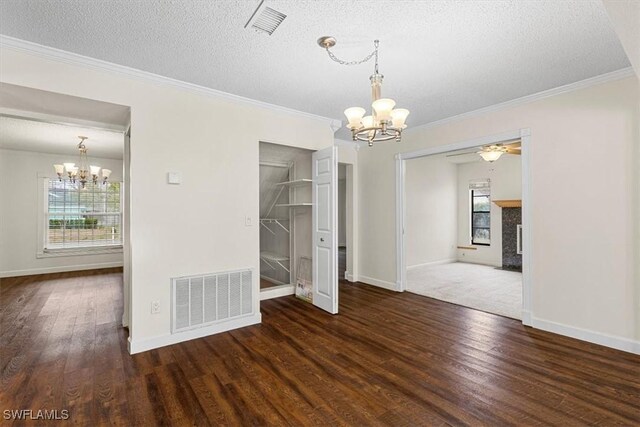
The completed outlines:
[[[409,128],[402,144],[361,149],[361,230],[369,232],[360,234],[360,277],[396,285],[395,153],[529,128],[533,318],[547,329],[638,345],[638,86],[627,77]],[[583,209],[586,201],[598,209]]]

